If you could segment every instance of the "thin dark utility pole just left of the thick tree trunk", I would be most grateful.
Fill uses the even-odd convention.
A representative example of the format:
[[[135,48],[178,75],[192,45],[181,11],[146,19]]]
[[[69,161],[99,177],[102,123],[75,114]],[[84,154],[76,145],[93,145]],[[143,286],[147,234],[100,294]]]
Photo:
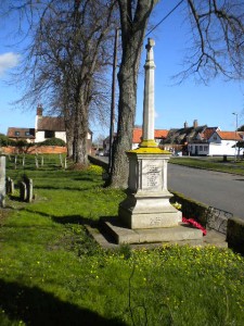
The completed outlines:
[[[108,173],[112,170],[113,161],[113,142],[114,142],[114,116],[115,116],[115,92],[116,92],[116,66],[117,66],[117,48],[118,48],[119,28],[115,29],[114,41],[114,60],[113,60],[113,77],[112,77],[112,97],[111,97],[111,127],[110,127],[110,156],[108,156]]]

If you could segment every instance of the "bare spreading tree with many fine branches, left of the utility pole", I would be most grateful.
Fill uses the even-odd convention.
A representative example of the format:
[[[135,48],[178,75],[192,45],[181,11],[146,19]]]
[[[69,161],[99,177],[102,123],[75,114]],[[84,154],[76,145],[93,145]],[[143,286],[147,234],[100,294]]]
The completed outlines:
[[[95,111],[102,115],[107,99],[104,75],[111,61],[115,2],[47,0],[42,7],[36,3],[38,13],[33,13],[35,1],[18,2],[20,10],[29,9],[34,33],[23,62],[22,78],[24,73],[28,84],[22,100],[46,97],[52,108],[59,108],[65,120],[68,154],[76,163],[87,164],[89,118]],[[35,26],[33,15],[38,16]]]

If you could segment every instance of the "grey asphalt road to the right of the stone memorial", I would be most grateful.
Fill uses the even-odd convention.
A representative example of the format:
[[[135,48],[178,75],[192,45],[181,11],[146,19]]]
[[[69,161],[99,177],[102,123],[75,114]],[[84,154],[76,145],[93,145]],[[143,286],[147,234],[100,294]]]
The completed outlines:
[[[244,177],[168,164],[168,189],[244,218]]]

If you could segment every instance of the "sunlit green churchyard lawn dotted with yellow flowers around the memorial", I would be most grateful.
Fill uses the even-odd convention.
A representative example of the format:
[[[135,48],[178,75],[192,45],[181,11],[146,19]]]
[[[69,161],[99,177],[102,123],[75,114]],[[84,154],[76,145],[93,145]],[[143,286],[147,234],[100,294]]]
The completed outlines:
[[[28,158],[30,160],[31,158]],[[34,180],[0,211],[0,325],[243,325],[244,258],[215,247],[102,250],[84,223],[115,216],[125,198],[101,168],[63,171],[49,156],[13,168]]]

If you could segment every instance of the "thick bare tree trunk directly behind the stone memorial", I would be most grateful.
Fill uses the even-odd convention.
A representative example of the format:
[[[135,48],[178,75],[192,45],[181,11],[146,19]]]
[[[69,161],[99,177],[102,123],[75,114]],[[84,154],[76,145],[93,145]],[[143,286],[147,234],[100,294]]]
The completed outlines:
[[[117,139],[112,162],[110,185],[126,188],[128,184],[128,159],[126,151],[132,146],[132,131],[137,105],[137,83],[143,39],[155,0],[140,0],[134,14],[132,1],[119,0],[123,59],[118,73],[119,100]]]

